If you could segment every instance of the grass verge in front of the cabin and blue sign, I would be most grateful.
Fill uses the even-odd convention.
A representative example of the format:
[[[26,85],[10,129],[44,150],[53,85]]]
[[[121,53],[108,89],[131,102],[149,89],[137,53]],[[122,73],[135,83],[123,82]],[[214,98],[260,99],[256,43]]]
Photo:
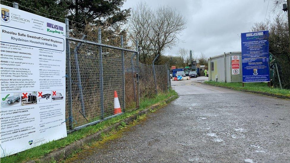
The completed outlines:
[[[224,83],[224,82],[215,82],[215,81],[205,81],[204,83],[215,85],[215,86],[223,86],[232,88],[234,90],[248,90],[248,91],[257,91],[257,92],[264,92],[269,94],[275,95],[283,95],[290,97],[290,90],[289,89],[280,89],[280,88],[273,88],[268,87],[267,83],[245,83],[245,86],[242,86],[242,83]]]

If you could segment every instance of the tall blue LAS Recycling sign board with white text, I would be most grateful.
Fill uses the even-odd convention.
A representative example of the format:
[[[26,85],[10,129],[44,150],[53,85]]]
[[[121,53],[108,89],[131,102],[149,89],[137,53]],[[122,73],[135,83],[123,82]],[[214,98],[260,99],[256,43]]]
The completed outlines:
[[[242,33],[243,82],[269,82],[269,31]]]

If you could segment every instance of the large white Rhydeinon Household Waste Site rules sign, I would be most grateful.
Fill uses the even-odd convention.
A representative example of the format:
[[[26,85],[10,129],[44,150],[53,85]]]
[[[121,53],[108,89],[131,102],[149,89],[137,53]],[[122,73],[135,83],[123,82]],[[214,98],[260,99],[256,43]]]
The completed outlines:
[[[1,157],[67,136],[65,24],[1,5]]]

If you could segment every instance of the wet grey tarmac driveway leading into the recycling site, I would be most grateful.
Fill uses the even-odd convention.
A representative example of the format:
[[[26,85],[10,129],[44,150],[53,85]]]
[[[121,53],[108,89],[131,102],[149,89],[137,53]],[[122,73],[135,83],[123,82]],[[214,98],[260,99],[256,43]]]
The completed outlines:
[[[75,162],[290,162],[290,100],[172,81],[179,98]]]

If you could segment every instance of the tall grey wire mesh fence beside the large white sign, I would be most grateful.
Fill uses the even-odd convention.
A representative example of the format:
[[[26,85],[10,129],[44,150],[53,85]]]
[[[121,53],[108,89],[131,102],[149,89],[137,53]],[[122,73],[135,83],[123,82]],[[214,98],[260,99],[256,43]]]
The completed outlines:
[[[137,48],[123,48],[121,35],[95,26],[68,28],[68,24],[73,24],[68,20],[66,24],[68,132],[135,110],[140,97],[155,94],[152,65],[138,62]],[[167,66],[156,65],[155,72],[158,92],[166,92]],[[122,113],[114,109],[115,91]]]

